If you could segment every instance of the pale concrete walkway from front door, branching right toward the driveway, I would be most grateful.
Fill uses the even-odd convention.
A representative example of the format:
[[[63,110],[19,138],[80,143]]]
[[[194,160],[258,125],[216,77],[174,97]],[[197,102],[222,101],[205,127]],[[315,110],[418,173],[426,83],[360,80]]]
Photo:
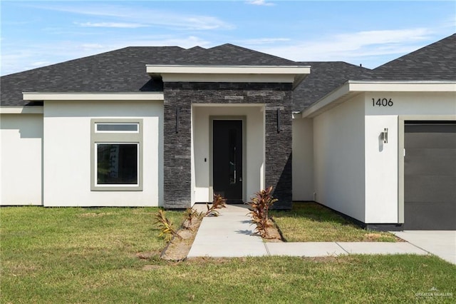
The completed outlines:
[[[194,208],[199,211],[206,210],[204,205],[195,205]],[[254,226],[250,222],[250,217],[247,216],[249,212],[247,206],[229,205],[219,211],[220,216],[203,219],[187,258],[261,255],[321,257],[346,254],[435,254],[432,250],[423,248],[425,246],[414,245],[413,242],[268,243],[258,235],[254,235]],[[398,236],[402,238],[400,235]]]

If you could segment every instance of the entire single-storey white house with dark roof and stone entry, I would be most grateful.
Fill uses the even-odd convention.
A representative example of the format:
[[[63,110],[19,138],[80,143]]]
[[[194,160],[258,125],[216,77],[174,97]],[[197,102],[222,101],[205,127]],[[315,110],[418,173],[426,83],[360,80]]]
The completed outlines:
[[[231,44],[129,47],[1,77],[1,205],[316,201],[456,229],[456,35],[377,69]]]

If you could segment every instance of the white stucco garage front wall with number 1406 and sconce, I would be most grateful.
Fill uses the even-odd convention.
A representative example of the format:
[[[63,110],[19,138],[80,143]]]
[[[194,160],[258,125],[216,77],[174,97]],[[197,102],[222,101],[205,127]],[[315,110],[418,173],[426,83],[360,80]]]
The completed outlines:
[[[386,98],[393,106],[377,106],[374,101]],[[432,120],[456,115],[456,93],[366,93],[366,221],[365,223],[398,223],[399,205],[398,151],[399,117],[421,116]],[[414,117],[413,119],[417,119]],[[380,141],[380,132],[388,128],[388,143]]]

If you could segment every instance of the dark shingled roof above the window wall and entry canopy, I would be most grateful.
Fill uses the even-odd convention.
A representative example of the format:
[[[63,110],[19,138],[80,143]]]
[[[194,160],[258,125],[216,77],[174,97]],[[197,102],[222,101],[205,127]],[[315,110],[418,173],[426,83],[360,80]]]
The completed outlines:
[[[293,66],[296,62],[232,44],[211,49],[132,46],[3,76],[1,106],[27,105],[22,92],[162,91],[162,83],[146,74],[146,64]]]

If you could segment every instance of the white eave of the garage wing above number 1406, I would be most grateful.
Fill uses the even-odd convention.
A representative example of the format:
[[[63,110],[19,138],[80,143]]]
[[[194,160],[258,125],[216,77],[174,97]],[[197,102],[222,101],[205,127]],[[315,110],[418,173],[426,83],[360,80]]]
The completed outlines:
[[[306,108],[302,117],[315,117],[365,92],[456,92],[456,81],[347,81]]]

